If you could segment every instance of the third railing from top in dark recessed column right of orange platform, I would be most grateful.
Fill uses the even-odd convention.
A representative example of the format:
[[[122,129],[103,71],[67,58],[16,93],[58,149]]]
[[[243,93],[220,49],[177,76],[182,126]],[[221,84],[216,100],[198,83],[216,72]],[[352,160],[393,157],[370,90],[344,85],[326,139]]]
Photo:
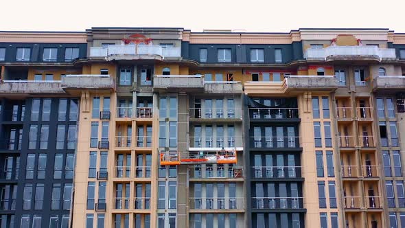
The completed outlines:
[[[299,178],[301,166],[253,166],[253,178]]]

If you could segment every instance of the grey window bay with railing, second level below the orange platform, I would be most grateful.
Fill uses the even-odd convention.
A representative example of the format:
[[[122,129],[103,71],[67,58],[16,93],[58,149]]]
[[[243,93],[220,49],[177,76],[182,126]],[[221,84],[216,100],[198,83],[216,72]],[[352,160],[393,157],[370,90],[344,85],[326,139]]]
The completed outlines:
[[[244,187],[241,182],[189,183],[190,213],[242,213]]]

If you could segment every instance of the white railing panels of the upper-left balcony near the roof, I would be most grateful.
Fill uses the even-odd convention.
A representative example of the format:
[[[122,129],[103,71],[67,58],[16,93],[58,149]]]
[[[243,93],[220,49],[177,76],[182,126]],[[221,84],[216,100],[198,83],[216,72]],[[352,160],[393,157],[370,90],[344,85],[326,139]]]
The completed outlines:
[[[159,45],[108,45],[108,47],[90,47],[90,57],[107,56],[162,56],[181,57],[180,47],[163,48]]]

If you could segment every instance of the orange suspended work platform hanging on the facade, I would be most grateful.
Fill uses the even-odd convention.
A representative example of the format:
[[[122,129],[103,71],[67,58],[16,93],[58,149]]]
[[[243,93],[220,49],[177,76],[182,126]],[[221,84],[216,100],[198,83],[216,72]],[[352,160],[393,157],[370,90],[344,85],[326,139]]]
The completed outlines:
[[[187,155],[179,155],[177,151],[161,151],[161,166],[177,166],[192,164],[235,164],[238,162],[236,150],[193,151]]]

